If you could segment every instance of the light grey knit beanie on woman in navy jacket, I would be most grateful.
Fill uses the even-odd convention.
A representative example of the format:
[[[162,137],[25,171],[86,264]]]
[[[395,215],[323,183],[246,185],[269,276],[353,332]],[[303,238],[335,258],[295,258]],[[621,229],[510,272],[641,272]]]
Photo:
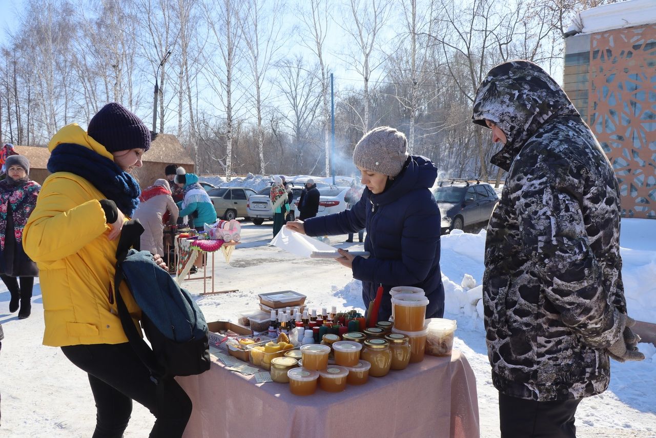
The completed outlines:
[[[362,136],[353,151],[353,162],[364,169],[396,177],[408,158],[405,135],[380,126]]]

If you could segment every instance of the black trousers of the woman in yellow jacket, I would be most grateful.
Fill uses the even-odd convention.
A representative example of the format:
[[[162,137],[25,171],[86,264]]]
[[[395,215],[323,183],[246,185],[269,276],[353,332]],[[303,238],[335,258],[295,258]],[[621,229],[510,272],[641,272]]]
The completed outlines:
[[[192,414],[192,401],[173,380],[155,383],[129,343],[68,345],[64,355],[89,374],[96,401],[93,438],[121,438],[132,413],[132,401],[155,416],[150,438],[179,438]]]

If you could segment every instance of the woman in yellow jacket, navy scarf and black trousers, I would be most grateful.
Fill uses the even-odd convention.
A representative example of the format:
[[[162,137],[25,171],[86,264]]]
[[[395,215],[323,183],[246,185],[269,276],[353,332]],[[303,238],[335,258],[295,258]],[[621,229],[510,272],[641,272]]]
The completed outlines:
[[[91,119],[88,132],[67,125],[48,147],[52,175],[23,234],[25,251],[40,269],[43,343],[61,347],[89,375],[94,438],[121,437],[133,400],[156,418],[150,438],[180,437],[192,403],[173,379],[159,387],[150,379],[123,332],[113,296],[117,237],[140,194],[130,171],[141,167],[150,131],[112,102]],[[120,293],[138,328],[140,309],[125,284]]]

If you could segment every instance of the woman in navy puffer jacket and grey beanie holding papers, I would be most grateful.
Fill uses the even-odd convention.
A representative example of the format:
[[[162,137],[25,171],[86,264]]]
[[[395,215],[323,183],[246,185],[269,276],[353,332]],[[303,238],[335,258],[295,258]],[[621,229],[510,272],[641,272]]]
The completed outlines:
[[[408,155],[405,135],[377,127],[356,145],[353,162],[366,188],[351,208],[333,215],[288,222],[289,229],[323,236],[365,228],[368,259],[339,250],[342,265],[362,281],[365,309],[382,285],[378,320],[392,315],[390,289],[422,288],[428,297],[426,318],[442,317],[444,289],[440,272],[440,209],[430,192],[438,169],[428,158]]]

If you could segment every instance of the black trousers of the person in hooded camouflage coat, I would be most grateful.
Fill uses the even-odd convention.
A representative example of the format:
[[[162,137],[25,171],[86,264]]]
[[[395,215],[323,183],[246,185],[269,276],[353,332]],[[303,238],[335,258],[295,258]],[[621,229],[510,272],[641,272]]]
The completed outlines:
[[[534,401],[499,393],[501,438],[575,438],[581,400]]]

